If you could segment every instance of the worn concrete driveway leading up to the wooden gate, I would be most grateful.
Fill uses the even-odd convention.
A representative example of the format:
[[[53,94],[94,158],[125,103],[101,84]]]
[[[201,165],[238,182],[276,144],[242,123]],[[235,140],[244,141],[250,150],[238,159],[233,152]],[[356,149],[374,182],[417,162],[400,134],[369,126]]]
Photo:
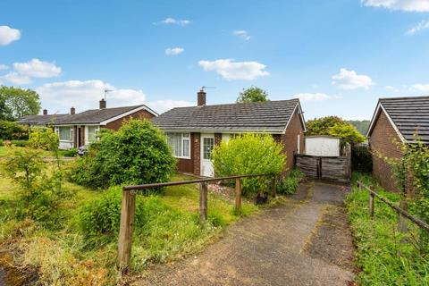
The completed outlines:
[[[342,198],[338,186],[302,187],[288,203],[231,225],[198,256],[157,265],[135,284],[347,285],[353,279],[349,270],[307,252],[326,203],[340,204]]]

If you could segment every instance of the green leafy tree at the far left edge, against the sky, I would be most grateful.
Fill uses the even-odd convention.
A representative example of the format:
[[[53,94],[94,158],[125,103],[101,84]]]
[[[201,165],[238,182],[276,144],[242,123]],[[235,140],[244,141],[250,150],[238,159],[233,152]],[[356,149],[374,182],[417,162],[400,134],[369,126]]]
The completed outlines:
[[[41,105],[34,90],[1,87],[0,107],[0,119],[15,121],[24,115],[38,114]]]

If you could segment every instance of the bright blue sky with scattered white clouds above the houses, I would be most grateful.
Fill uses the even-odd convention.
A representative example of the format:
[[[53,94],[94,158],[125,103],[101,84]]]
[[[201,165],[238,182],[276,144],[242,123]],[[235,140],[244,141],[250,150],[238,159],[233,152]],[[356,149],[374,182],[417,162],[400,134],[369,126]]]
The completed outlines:
[[[49,114],[299,97],[306,119],[371,119],[429,95],[429,0],[1,0],[0,84]]]

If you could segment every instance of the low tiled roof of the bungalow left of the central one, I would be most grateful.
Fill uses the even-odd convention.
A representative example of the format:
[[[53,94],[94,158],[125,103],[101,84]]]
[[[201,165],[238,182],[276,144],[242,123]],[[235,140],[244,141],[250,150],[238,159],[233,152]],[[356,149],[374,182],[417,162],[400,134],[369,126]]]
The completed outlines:
[[[55,124],[84,124],[84,123],[100,123],[108,119],[114,118],[121,114],[128,113],[134,109],[137,109],[145,105],[134,105],[134,106],[122,106],[104,109],[91,109],[84,111],[80,114],[71,114],[59,118],[55,121]]]

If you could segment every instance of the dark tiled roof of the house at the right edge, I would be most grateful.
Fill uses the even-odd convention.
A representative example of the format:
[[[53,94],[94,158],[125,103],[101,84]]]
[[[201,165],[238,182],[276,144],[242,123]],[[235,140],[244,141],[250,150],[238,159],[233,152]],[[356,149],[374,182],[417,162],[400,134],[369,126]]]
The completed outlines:
[[[415,135],[429,144],[429,97],[380,98],[391,121],[407,141]]]

